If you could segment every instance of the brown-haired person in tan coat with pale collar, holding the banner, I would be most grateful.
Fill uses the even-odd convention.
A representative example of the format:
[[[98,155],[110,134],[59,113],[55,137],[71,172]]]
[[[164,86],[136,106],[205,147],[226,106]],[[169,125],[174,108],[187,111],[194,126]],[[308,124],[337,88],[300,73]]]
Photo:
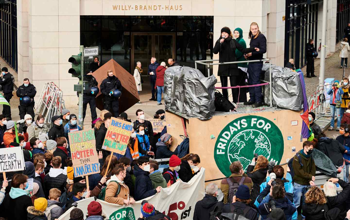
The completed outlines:
[[[135,200],[130,197],[129,188],[123,181],[126,176],[124,164],[117,164],[113,169],[113,173],[114,175],[107,181],[105,201],[118,205],[134,204]],[[118,188],[120,188],[120,191]]]

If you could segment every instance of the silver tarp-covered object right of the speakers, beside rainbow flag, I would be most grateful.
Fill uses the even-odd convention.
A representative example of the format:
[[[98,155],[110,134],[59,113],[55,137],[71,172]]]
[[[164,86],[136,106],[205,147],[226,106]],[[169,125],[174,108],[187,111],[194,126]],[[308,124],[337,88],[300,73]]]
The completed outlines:
[[[264,65],[265,81],[270,81],[268,65]],[[302,110],[303,109],[303,91],[299,73],[289,68],[281,66],[271,66],[272,73],[272,104],[283,109]],[[270,87],[265,86],[264,101],[270,103]]]

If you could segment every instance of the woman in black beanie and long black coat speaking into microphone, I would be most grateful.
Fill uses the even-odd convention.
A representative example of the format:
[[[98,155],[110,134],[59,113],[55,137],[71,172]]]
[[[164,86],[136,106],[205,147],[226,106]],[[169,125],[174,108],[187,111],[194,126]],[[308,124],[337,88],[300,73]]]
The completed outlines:
[[[233,39],[232,32],[230,28],[223,27],[221,29],[221,36],[216,41],[213,53],[219,53],[219,62],[233,62],[237,61],[236,59],[236,49],[242,53],[250,53],[254,51],[259,51],[259,48],[244,48],[241,46],[235,39]],[[230,77],[230,85],[237,86],[240,71],[237,64],[222,64],[219,65],[218,76],[220,76],[221,86],[227,87],[227,78]],[[222,94],[227,99],[228,91],[227,89],[222,90]],[[237,103],[238,101],[238,89],[232,89],[232,98],[233,102]]]

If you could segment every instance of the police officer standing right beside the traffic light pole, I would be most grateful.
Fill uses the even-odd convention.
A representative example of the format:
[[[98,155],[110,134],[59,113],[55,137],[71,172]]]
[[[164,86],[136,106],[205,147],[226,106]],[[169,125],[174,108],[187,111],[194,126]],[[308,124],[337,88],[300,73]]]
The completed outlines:
[[[88,69],[86,71],[86,74],[84,75],[83,78],[84,81],[87,81],[87,86],[83,90],[83,120],[85,119],[86,115],[86,107],[87,103],[90,105],[90,111],[91,111],[91,118],[92,121],[96,120],[97,118],[97,113],[96,113],[96,100],[95,96],[97,94],[94,94],[93,91],[91,91],[91,87],[96,87],[97,86],[97,81],[96,79],[92,76],[92,70]]]

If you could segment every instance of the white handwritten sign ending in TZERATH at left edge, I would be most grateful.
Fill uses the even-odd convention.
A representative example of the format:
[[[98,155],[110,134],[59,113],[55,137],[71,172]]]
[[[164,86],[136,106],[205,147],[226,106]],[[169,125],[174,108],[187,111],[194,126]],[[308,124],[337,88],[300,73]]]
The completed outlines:
[[[0,172],[24,170],[24,157],[21,147],[0,149]]]

